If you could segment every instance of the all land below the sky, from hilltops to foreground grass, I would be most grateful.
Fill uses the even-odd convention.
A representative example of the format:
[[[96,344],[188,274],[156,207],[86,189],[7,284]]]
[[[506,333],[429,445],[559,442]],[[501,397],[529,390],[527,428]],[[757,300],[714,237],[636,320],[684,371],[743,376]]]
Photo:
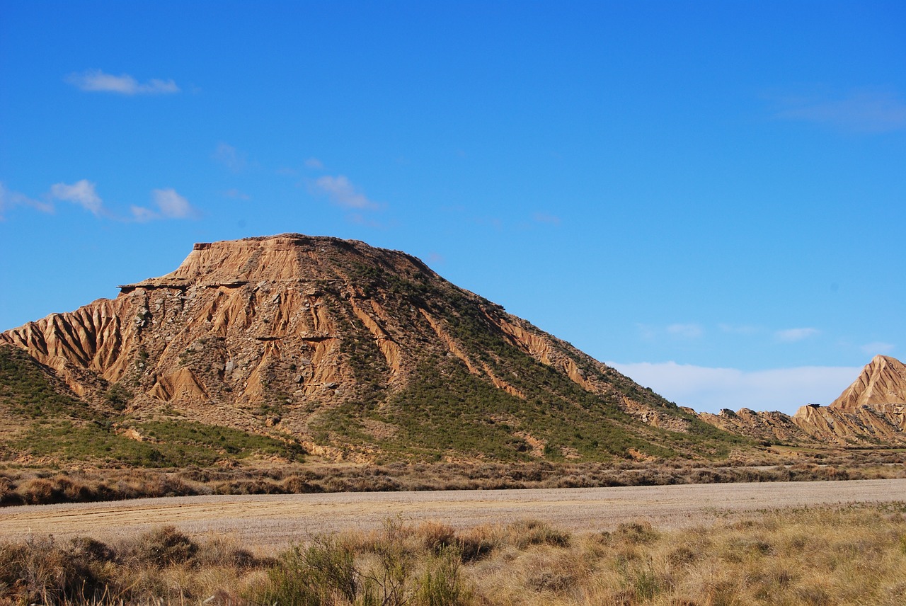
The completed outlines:
[[[0,333],[0,604],[901,604],[904,409],[877,356],[698,414],[410,255],[200,244]]]

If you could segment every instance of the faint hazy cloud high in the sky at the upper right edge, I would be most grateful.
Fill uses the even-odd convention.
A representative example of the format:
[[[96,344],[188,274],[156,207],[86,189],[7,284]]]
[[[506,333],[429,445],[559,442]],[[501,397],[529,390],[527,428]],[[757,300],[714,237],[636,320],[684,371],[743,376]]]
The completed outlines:
[[[845,97],[786,97],[778,118],[803,120],[854,132],[906,129],[906,102],[890,92],[856,91]]]

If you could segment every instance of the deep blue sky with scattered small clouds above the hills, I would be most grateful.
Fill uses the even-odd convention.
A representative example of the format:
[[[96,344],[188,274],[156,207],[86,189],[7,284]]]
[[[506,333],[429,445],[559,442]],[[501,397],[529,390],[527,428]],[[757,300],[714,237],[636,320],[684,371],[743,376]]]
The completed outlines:
[[[679,404],[906,358],[901,2],[0,0],[0,330],[363,240]]]

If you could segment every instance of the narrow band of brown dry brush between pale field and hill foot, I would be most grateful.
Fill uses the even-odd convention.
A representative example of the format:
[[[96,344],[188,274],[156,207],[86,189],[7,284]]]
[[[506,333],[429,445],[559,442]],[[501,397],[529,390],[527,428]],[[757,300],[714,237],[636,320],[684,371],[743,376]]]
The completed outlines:
[[[400,490],[667,486],[906,477],[906,451],[766,449],[724,461],[603,463],[273,464],[241,467],[0,468],[0,505],[85,503],[146,496]]]

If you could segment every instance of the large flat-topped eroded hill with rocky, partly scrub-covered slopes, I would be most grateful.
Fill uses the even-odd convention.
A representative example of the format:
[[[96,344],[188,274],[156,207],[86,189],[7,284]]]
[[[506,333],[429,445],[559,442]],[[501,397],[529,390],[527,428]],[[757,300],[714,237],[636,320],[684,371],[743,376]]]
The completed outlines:
[[[553,457],[593,458],[604,441],[611,451],[671,447],[664,431],[712,431],[417,258],[361,242],[285,234],[198,244],[176,271],[120,291],[0,333],[0,343],[28,351],[84,399],[129,390],[129,418],[178,413],[279,430],[337,457],[403,447],[418,433],[413,415],[425,432],[439,422],[432,415],[460,405],[463,422],[490,423],[517,452]],[[539,410],[566,412],[551,421],[535,419]],[[586,435],[564,438],[570,415]]]

